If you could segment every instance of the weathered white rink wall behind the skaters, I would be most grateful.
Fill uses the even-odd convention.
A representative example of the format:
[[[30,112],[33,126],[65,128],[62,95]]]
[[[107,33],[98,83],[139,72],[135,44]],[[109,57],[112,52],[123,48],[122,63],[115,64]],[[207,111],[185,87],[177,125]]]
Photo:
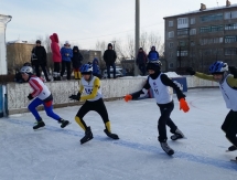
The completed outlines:
[[[196,87],[217,87],[218,84],[211,81],[200,80],[194,76],[185,76],[187,88]],[[101,80],[101,92],[105,100],[115,100],[122,98],[126,94],[137,92],[142,88],[147,77],[121,77],[116,80]],[[58,81],[45,83],[54,97],[54,107],[79,106],[83,102],[69,100],[68,96],[77,94],[78,81]],[[9,115],[26,113],[29,99],[28,95],[32,92],[28,83],[7,84],[7,105]],[[42,110],[43,106],[39,107]]]

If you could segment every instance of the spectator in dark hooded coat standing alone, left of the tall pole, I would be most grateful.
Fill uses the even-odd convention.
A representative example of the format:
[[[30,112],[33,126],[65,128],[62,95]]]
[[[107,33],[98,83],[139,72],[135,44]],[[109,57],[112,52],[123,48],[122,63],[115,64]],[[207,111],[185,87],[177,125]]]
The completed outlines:
[[[105,51],[103,59],[106,62],[108,78],[110,78],[110,66],[112,66],[112,68],[114,68],[114,78],[116,78],[116,64],[115,64],[115,62],[117,59],[117,54],[116,54],[116,51],[112,50],[111,43],[108,44],[108,50]]]

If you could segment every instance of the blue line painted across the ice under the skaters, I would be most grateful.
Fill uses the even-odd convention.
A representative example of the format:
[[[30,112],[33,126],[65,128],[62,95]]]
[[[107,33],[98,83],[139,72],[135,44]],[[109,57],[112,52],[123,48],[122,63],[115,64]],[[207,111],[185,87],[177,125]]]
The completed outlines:
[[[17,119],[7,119],[6,121],[12,123],[12,124],[18,124],[18,125],[25,126],[25,127],[29,126],[32,128],[32,123],[21,121],[21,120],[17,120]],[[61,129],[60,127],[53,127],[53,126],[49,126],[49,125],[46,126],[45,130],[62,133],[62,134],[72,135],[72,136],[79,136],[79,137],[84,136],[84,134],[79,133],[79,131],[75,131],[75,130],[71,130],[71,129]],[[105,138],[105,136],[96,136],[96,137],[94,137],[94,139],[108,142],[108,139]],[[109,142],[111,142],[111,141],[109,141]],[[121,140],[121,139],[112,140],[112,144],[122,146],[122,147],[127,147],[127,148],[131,148],[131,149],[136,149],[136,150],[146,151],[146,152],[164,153],[166,156],[166,153],[163,150],[161,150],[160,147],[157,147],[157,146],[129,142],[129,141]],[[237,171],[236,162],[196,156],[196,155],[176,151],[176,150],[175,150],[175,153],[173,157],[180,158],[180,159],[185,159],[187,161],[203,163],[203,165],[209,165],[209,166],[217,167],[217,168],[224,168],[224,169],[231,170],[231,171]]]

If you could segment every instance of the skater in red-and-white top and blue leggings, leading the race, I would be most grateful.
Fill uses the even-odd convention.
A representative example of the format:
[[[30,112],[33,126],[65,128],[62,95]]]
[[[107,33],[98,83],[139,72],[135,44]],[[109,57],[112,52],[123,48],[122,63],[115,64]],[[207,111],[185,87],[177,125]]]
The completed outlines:
[[[36,125],[33,126],[33,129],[39,129],[41,127],[44,127],[45,124],[42,120],[41,116],[39,115],[36,107],[42,105],[44,106],[44,110],[46,112],[47,116],[54,118],[61,124],[61,127],[66,127],[69,121],[64,120],[58,115],[56,115],[53,112],[53,96],[47,88],[47,86],[43,83],[43,81],[33,75],[33,70],[31,66],[23,66],[21,68],[21,75],[22,78],[30,84],[30,86],[33,88],[33,92],[29,94],[28,98],[32,100],[30,105],[28,106],[29,110],[33,114],[33,116],[36,119]]]

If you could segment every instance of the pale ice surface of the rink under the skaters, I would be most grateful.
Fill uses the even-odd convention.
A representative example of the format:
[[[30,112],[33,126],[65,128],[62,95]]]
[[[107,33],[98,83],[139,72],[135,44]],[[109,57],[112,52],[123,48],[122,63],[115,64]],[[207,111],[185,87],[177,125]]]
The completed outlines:
[[[94,139],[80,145],[84,131],[75,123],[79,106],[55,112],[72,121],[65,129],[41,112],[46,128],[33,131],[30,113],[0,118],[0,180],[236,180],[235,152],[220,126],[228,109],[218,88],[190,89],[191,110],[183,113],[174,95],[173,121],[187,139],[168,140],[169,157],[158,142],[159,107],[154,99],[106,102],[109,139],[101,118],[85,116]],[[171,136],[168,128],[168,135]]]

